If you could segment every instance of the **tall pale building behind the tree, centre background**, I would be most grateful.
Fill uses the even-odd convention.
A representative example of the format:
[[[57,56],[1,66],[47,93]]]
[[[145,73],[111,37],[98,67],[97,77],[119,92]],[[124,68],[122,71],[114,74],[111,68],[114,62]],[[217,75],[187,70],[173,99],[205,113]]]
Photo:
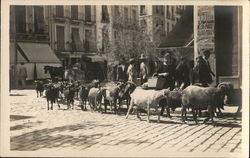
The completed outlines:
[[[138,25],[137,6],[96,6],[97,49],[109,62],[129,56]]]

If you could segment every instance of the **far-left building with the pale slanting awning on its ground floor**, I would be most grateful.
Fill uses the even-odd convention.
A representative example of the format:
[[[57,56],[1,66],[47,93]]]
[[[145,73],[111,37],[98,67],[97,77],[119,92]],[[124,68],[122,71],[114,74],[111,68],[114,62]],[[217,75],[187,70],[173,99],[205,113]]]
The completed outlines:
[[[60,66],[50,47],[48,6],[10,7],[10,65],[25,63],[28,80],[47,78],[44,65]]]

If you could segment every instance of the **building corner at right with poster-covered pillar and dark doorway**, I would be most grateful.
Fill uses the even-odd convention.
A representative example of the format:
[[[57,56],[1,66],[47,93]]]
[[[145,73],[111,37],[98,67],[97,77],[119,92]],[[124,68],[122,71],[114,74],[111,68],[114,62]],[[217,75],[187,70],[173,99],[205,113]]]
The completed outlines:
[[[214,84],[242,85],[242,7],[194,7],[194,55],[211,51],[210,66],[216,73]]]

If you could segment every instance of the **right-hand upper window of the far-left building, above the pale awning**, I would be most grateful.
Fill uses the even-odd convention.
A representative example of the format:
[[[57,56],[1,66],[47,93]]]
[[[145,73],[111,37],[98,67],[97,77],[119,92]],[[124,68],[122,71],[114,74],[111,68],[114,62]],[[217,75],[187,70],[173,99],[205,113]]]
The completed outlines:
[[[34,26],[36,33],[44,32],[44,9],[43,7],[35,6],[34,7]]]

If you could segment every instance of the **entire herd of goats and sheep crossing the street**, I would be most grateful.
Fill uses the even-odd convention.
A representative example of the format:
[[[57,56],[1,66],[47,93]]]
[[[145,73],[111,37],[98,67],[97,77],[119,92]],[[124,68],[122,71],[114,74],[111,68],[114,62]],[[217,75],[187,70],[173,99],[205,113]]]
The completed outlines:
[[[169,89],[155,90],[144,89],[136,86],[132,82],[109,82],[100,83],[94,80],[91,83],[75,81],[69,83],[67,81],[51,82],[35,81],[37,97],[42,96],[45,90],[48,110],[53,110],[53,103],[57,103],[60,108],[59,99],[67,102],[68,109],[74,108],[75,98],[79,98],[82,110],[87,110],[87,102],[91,111],[107,112],[107,106],[110,110],[117,114],[123,101],[126,101],[128,118],[132,109],[140,118],[139,110],[146,109],[147,121],[150,121],[150,109],[155,109],[158,114],[158,122],[160,116],[166,110],[167,116],[171,117],[170,109],[174,111],[176,108],[181,108],[182,121],[186,121],[187,109],[191,109],[193,119],[197,123],[197,114],[201,110],[207,110],[208,118],[204,123],[211,119],[214,124],[214,114],[222,114],[220,109],[226,102],[225,98],[229,98],[232,91],[230,83],[220,83],[217,87],[200,87],[198,85],[190,85],[184,90]],[[226,97],[227,96],[227,97]],[[103,109],[104,107],[104,109]],[[135,108],[134,108],[135,107]],[[161,109],[161,110],[159,110]],[[104,110],[104,111],[103,111]],[[218,110],[218,112],[217,112]]]

